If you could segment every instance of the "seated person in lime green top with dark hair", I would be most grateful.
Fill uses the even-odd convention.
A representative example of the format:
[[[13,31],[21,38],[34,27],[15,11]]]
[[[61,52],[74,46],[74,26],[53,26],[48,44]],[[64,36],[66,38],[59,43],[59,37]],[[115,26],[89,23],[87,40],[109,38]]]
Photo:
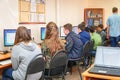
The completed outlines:
[[[97,46],[102,45],[102,38],[101,38],[100,34],[96,33],[96,28],[97,28],[96,26],[91,26],[89,28],[91,40],[94,41],[94,50],[96,50]]]

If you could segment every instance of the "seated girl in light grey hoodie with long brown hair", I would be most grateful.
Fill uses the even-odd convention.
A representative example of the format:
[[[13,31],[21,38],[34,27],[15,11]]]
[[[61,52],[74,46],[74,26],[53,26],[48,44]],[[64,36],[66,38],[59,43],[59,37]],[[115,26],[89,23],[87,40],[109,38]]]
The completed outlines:
[[[12,68],[3,71],[2,80],[24,80],[30,61],[39,54],[41,49],[32,41],[27,28],[18,27],[11,53]]]

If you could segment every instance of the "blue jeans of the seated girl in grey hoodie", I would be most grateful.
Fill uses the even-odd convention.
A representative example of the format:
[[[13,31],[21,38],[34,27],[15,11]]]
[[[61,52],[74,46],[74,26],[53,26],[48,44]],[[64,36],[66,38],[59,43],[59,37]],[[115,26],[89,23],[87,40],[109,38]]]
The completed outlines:
[[[3,70],[2,80],[14,80],[12,77],[13,68]]]

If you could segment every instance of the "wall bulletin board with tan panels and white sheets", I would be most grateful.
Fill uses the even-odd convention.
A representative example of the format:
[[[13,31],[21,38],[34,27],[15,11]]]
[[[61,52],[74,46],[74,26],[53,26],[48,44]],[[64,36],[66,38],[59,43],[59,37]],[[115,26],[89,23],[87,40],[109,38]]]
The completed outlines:
[[[19,0],[19,24],[45,24],[45,0]]]

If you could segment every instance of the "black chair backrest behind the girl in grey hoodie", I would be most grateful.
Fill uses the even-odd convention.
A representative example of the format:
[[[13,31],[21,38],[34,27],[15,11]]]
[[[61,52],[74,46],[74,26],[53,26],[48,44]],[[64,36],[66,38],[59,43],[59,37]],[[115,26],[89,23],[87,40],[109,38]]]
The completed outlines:
[[[41,56],[36,56],[29,63],[25,80],[39,80],[45,70],[45,60]]]

